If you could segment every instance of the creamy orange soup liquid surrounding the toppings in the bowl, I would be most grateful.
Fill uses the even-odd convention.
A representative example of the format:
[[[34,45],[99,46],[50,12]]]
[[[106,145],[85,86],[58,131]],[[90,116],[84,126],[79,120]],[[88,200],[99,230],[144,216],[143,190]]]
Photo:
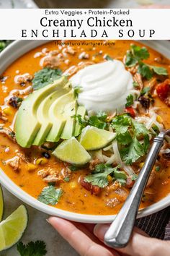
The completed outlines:
[[[72,41],[79,43],[78,41]],[[86,41],[88,42],[88,41]],[[94,41],[97,43],[97,41]],[[101,43],[101,41],[99,41]],[[59,67],[62,72],[65,72],[72,67],[71,74],[77,72],[78,69],[83,68],[89,64],[95,64],[104,61],[104,56],[109,55],[113,59],[123,61],[126,52],[130,49],[130,44],[143,46],[141,43],[128,41],[128,40],[116,40],[107,46],[58,46],[57,42],[51,41],[45,45],[39,46],[32,51],[29,51],[24,56],[14,61],[6,71],[1,74],[0,78],[0,106],[1,116],[0,124],[2,129],[8,128],[7,131],[12,131],[14,127],[14,116],[17,112],[17,107],[9,103],[9,99],[12,95],[18,95],[17,90],[25,90],[32,85],[32,77],[35,72],[42,69],[42,67],[50,66],[51,68]],[[148,48],[148,47],[147,47]],[[151,48],[148,48],[149,58],[144,62],[150,65],[164,67],[170,74],[170,61],[166,57],[162,56],[158,52]],[[49,52],[52,54],[49,57]],[[82,54],[84,53],[84,54]],[[53,58],[51,57],[53,56]],[[58,56],[58,59],[57,57]],[[75,67],[73,67],[75,66]],[[134,75],[136,71],[130,69],[130,72]],[[21,75],[28,73],[26,78]],[[170,108],[167,103],[168,98],[164,101],[163,98],[158,97],[155,92],[155,88],[166,80],[166,84],[169,84],[169,74],[159,76],[153,74],[151,80],[143,79],[144,86],[151,87],[151,95],[153,96],[154,103],[152,107],[156,108],[156,114],[158,115],[158,122],[164,125],[164,128],[170,127]],[[19,76],[19,77],[16,77]],[[155,80],[153,80],[155,78]],[[169,86],[169,85],[168,85]],[[154,87],[154,88],[152,88]],[[11,91],[14,91],[12,94]],[[27,94],[32,92],[32,88],[27,90],[23,95],[19,95],[21,98],[27,97]],[[11,95],[9,95],[11,93]],[[168,95],[169,97],[169,95]],[[6,103],[4,102],[5,99]],[[147,111],[143,108],[143,112],[140,114],[147,116]],[[0,129],[0,167],[9,176],[12,181],[21,187],[25,192],[37,198],[42,189],[48,186],[47,179],[43,179],[43,176],[37,175],[40,170],[47,170],[52,168],[58,174],[67,172],[69,164],[63,163],[55,158],[50,152],[44,148],[38,148],[32,146],[32,148],[21,148],[14,141],[14,132],[6,135],[1,132]],[[166,148],[168,148],[168,142],[166,142]],[[49,153],[50,158],[45,158],[45,153]],[[15,158],[16,157],[16,158]],[[18,157],[18,158],[17,158]],[[37,164],[35,169],[29,167],[29,163],[35,164],[38,158],[45,158],[45,164]],[[151,174],[151,178],[148,182],[148,187],[143,196],[140,208],[146,208],[148,205],[158,202],[170,192],[170,167],[169,167],[169,153],[162,153],[159,155],[157,168],[154,168]],[[135,173],[138,174],[143,164],[144,159],[133,163],[132,168]],[[66,168],[68,168],[66,170]],[[132,184],[109,184],[107,187],[101,189],[100,193],[96,195],[86,187],[81,186],[79,183],[80,176],[84,177],[86,174],[91,173],[89,166],[76,171],[68,171],[69,181],[59,179],[55,182],[55,187],[61,187],[63,195],[59,200],[56,208],[68,210],[74,213],[86,213],[94,215],[110,215],[117,213],[120,210],[125,198],[130,192]],[[134,183],[131,181],[131,183]]]

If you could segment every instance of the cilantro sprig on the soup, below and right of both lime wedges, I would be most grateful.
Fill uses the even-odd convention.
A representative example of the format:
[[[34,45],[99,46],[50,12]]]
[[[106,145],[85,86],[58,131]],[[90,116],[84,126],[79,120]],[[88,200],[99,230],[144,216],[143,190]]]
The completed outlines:
[[[99,163],[95,166],[94,171],[84,178],[84,181],[104,188],[109,184],[108,175],[112,176],[112,179],[117,180],[120,184],[125,184],[127,179],[125,172],[119,171],[119,166],[112,168],[109,164]]]

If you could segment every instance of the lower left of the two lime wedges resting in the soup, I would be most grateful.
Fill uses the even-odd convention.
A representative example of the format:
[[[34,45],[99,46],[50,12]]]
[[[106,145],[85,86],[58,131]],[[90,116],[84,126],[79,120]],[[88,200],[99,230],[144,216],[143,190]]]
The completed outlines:
[[[88,163],[91,159],[89,153],[86,152],[75,137],[71,137],[71,139],[61,142],[61,144],[53,151],[53,155],[61,161],[79,166]]]

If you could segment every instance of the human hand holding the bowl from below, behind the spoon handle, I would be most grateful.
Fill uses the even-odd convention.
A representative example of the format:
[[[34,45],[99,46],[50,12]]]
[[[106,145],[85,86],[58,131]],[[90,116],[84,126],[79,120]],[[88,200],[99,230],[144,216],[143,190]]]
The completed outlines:
[[[50,217],[48,222],[81,256],[169,256],[170,242],[148,237],[135,228],[127,247],[112,249],[103,243],[109,224],[71,223],[62,218]]]

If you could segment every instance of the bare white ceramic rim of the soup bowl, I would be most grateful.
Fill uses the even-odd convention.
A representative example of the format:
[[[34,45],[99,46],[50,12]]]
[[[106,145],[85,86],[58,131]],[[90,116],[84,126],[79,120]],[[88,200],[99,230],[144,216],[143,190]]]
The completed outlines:
[[[0,74],[4,72],[6,67],[18,59],[19,56],[22,56],[27,51],[30,51],[32,48],[46,43],[46,40],[19,40],[15,41],[9,45],[1,54],[0,54]],[[170,58],[170,43],[168,41],[142,41],[147,46],[151,46],[156,49],[156,51],[161,52],[164,56]],[[44,213],[48,213],[50,216],[59,216],[61,218],[66,218],[71,221],[79,221],[84,223],[109,223],[114,220],[115,216],[94,216],[86,215],[79,213],[71,213],[66,210],[60,210],[58,208],[53,208],[50,205],[45,205],[42,202],[36,200],[34,197],[30,196],[24,192],[20,187],[18,187],[8,176],[0,169],[0,183],[12,192],[13,195],[18,197],[23,202],[26,202],[28,205],[31,205],[37,210],[41,210]],[[159,202],[154,203],[153,205],[140,210],[138,213],[138,218],[148,216],[152,213],[156,213],[158,210],[164,209],[170,205],[170,195],[164,197],[164,199]]]

